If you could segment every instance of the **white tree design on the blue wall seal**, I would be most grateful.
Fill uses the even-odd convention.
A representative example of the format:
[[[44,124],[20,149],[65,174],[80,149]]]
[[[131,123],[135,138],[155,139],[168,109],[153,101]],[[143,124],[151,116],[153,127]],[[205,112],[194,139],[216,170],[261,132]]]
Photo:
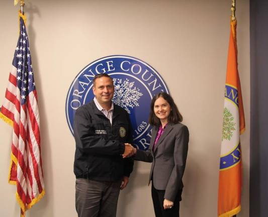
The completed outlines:
[[[138,99],[143,95],[140,89],[134,86],[134,81],[129,79],[114,78],[115,92],[113,102],[123,108],[130,114],[129,108],[139,106]]]

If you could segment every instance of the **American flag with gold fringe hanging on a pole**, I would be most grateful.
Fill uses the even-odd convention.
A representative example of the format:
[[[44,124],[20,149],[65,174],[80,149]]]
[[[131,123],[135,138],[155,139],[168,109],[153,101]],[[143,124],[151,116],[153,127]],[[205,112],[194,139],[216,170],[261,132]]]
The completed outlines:
[[[20,36],[0,117],[13,126],[9,183],[17,185],[21,215],[45,194],[40,149],[37,92],[26,18],[20,13]]]

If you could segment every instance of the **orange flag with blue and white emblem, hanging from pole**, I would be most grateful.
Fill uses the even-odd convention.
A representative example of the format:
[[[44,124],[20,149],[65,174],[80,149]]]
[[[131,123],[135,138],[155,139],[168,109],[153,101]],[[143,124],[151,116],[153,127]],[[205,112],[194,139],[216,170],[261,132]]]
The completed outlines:
[[[244,120],[237,69],[236,20],[231,20],[220,156],[219,217],[233,216],[241,210],[242,154],[240,134],[245,131]]]

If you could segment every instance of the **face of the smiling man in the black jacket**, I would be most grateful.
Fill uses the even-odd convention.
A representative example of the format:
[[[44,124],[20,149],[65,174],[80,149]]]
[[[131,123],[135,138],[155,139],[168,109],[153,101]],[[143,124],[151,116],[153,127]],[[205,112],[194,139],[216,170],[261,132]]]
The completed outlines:
[[[114,83],[109,77],[100,77],[95,80],[93,93],[101,105],[110,105],[114,96]]]

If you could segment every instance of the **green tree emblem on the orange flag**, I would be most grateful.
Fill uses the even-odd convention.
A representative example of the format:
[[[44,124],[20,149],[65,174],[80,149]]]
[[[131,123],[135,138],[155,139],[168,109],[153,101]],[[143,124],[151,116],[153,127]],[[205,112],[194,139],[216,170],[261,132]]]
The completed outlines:
[[[222,127],[222,141],[231,140],[233,136],[233,131],[235,131],[235,122],[233,122],[234,117],[232,113],[228,110],[228,108],[224,108],[223,110],[223,127]]]

